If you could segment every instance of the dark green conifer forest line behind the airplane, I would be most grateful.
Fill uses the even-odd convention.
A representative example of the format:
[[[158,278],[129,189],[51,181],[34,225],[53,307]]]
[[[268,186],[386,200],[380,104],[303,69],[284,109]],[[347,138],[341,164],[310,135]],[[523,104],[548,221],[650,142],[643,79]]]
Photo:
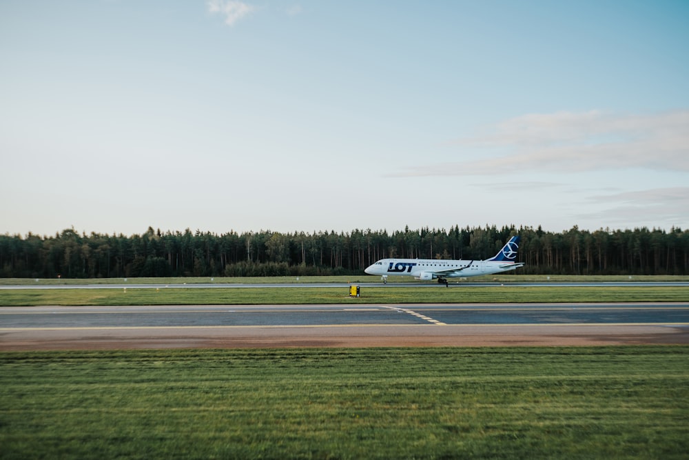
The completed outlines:
[[[361,274],[385,257],[487,259],[513,234],[522,237],[524,274],[688,274],[689,231],[600,229],[564,232],[486,226],[351,232],[238,234],[0,235],[0,277],[116,278]]]

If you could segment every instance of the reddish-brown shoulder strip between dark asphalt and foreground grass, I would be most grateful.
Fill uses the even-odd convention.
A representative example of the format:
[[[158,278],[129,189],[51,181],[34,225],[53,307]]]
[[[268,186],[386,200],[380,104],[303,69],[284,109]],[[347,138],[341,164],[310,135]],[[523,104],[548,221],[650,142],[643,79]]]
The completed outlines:
[[[0,330],[0,351],[640,344],[689,344],[689,327],[647,325],[424,325]]]

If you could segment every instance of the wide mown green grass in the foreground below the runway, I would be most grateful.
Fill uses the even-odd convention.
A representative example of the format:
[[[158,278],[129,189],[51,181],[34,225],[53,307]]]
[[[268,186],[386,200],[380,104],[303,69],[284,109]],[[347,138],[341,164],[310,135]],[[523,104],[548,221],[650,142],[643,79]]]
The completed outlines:
[[[654,458],[689,347],[0,353],[0,458]]]

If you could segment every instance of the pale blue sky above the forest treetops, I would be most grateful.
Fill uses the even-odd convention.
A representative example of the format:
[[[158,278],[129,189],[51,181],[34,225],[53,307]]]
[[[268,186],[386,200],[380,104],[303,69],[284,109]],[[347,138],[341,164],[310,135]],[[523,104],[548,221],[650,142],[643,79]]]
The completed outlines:
[[[0,1],[0,234],[689,228],[689,2]]]

